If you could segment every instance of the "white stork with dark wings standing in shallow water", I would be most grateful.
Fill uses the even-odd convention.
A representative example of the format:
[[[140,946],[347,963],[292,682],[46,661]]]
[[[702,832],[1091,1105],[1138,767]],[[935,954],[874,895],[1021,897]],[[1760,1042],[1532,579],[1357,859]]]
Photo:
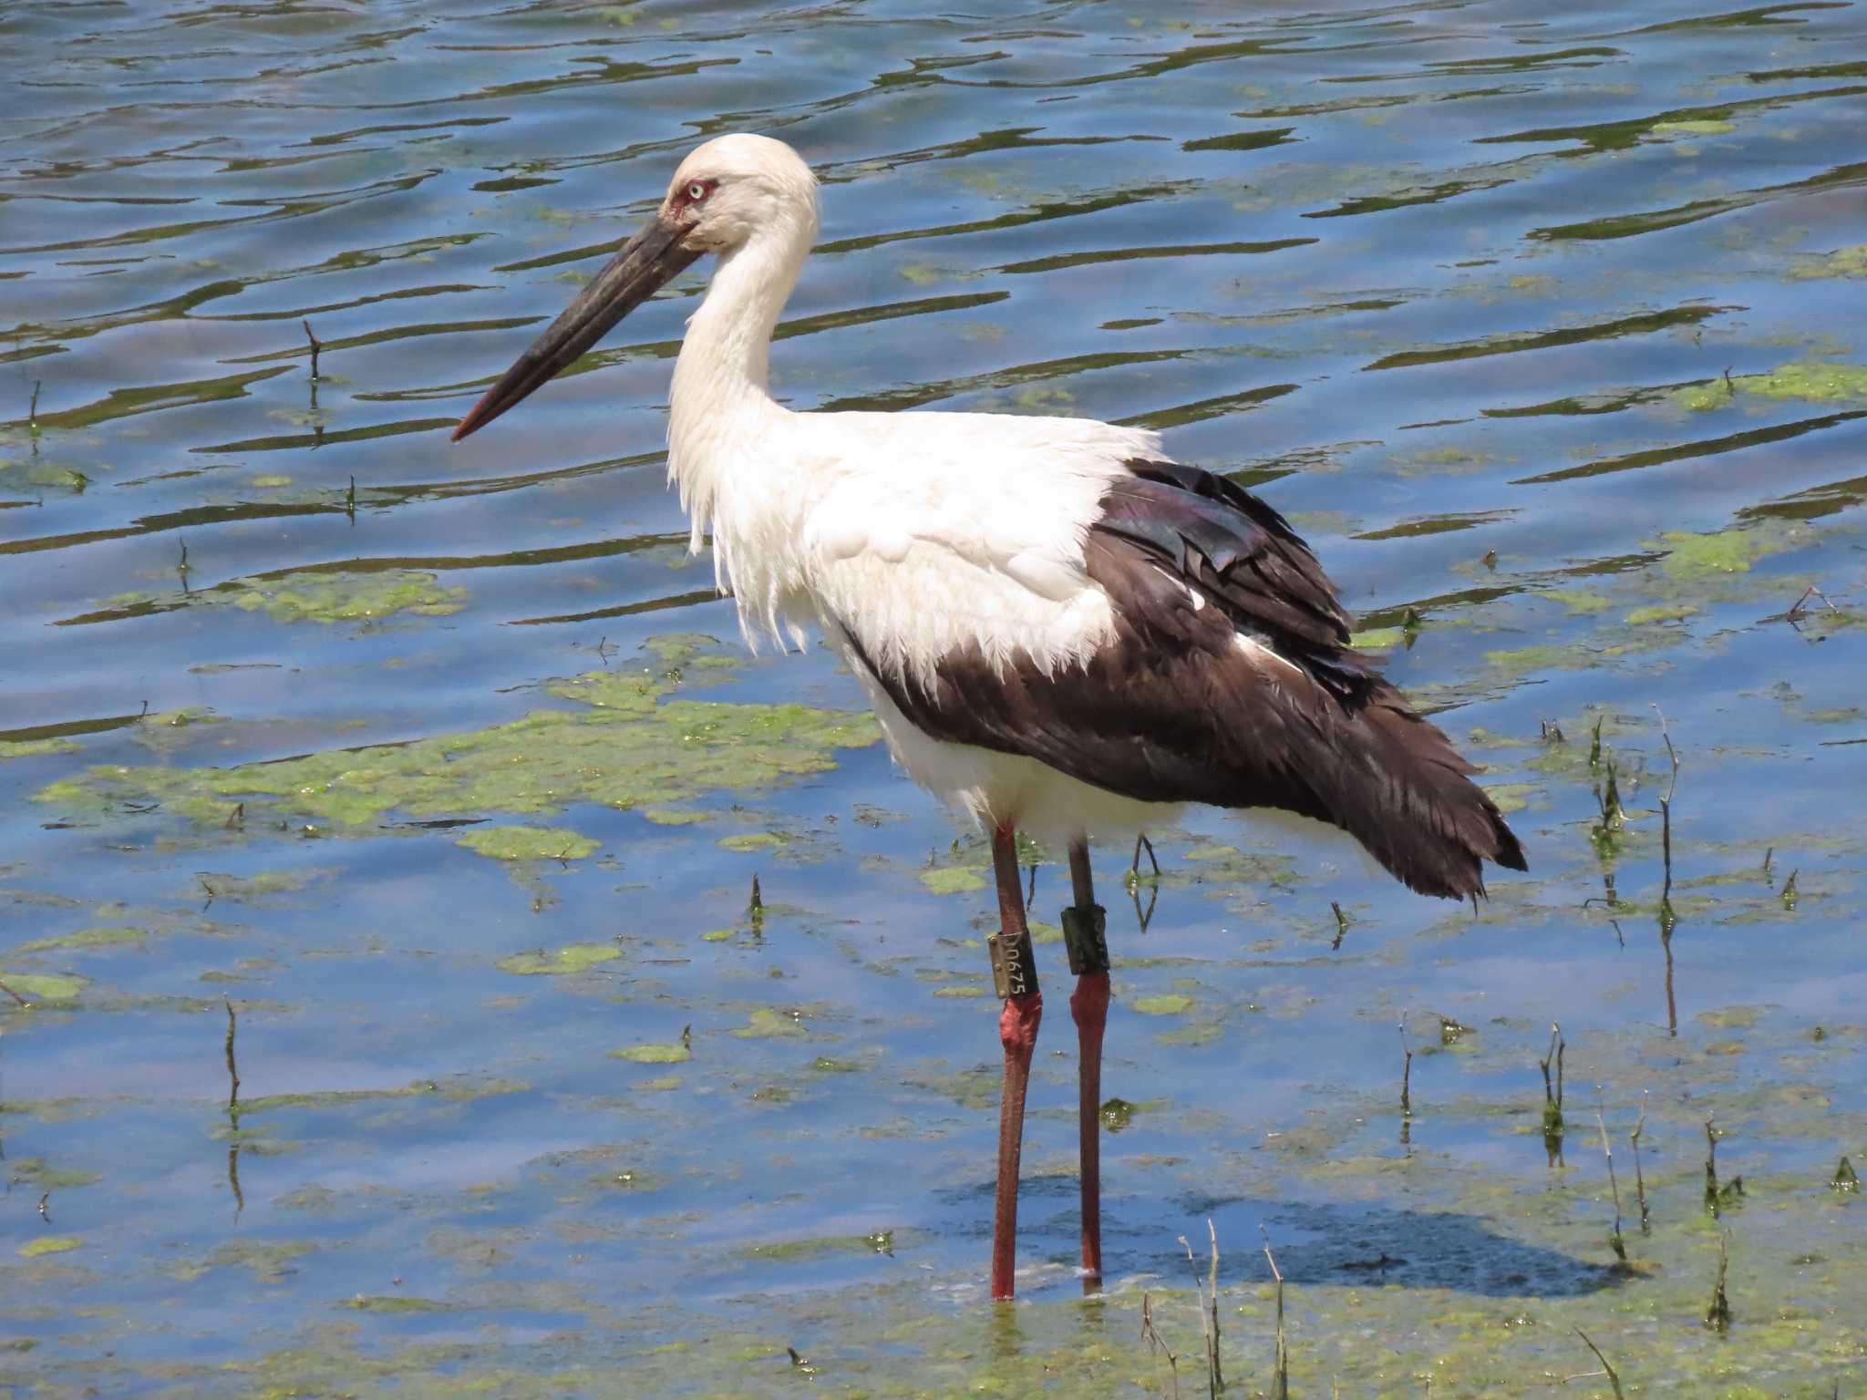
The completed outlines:
[[[1100,1099],[1109,1010],[1088,836],[1187,803],[1341,827],[1421,894],[1475,898],[1523,849],[1447,737],[1350,648],[1314,554],[1262,500],[1167,457],[1156,433],[1083,418],[792,413],[767,353],[818,235],[818,187],[784,142],[709,140],[655,217],[461,418],[484,427],[566,370],[702,254],[719,265],[668,398],[668,478],[747,644],[816,625],[894,758],[991,834],[1004,1085],[991,1295],[1014,1292],[1025,1086],[1044,995],[1019,831],[1070,855],[1083,1277],[1102,1277]]]

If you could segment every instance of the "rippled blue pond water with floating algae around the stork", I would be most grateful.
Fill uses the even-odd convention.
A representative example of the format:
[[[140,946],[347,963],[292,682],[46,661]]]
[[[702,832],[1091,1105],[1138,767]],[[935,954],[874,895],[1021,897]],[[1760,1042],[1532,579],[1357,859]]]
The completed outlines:
[[[1311,1394],[1540,1391],[1574,1327],[1647,1393],[1860,1365],[1858,6],[82,4],[0,54],[19,1394],[1169,1394],[1141,1295],[1197,1389],[1208,1219],[1234,1391],[1260,1225]],[[685,553],[698,274],[446,444],[734,129],[823,177],[788,403],[1161,429],[1531,851],[1477,913],[1219,814],[1133,896],[1098,853],[1103,1301],[1060,950],[993,1309],[986,851]]]

